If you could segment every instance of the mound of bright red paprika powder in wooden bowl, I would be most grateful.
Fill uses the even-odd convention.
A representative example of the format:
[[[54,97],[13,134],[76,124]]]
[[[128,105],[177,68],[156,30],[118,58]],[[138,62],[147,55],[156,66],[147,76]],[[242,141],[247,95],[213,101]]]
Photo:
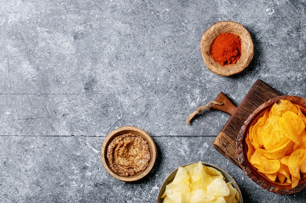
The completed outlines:
[[[237,35],[223,33],[212,46],[211,55],[222,65],[234,64],[241,56],[241,40]]]

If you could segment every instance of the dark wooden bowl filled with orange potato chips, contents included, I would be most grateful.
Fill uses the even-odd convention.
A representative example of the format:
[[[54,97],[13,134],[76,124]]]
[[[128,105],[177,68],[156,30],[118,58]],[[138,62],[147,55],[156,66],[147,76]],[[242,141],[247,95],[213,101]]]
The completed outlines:
[[[282,195],[306,187],[306,99],[283,95],[259,106],[244,122],[237,156],[245,174]]]

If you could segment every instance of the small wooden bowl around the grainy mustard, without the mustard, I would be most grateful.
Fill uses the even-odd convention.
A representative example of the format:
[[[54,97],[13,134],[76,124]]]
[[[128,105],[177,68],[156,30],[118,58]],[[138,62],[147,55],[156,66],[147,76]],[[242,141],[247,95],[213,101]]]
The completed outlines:
[[[149,166],[144,171],[141,171],[134,176],[127,176],[127,177],[119,176],[118,174],[113,172],[109,167],[109,161],[108,161],[108,158],[107,158],[107,149],[108,149],[109,143],[116,136],[124,134],[124,133],[133,133],[133,134],[142,136],[148,142],[148,145],[150,147],[151,160],[149,162]],[[109,135],[103,141],[103,144],[102,144],[102,147],[101,147],[101,160],[102,160],[102,163],[103,163],[103,166],[105,167],[105,169],[114,178],[116,178],[120,181],[125,181],[125,182],[137,181],[137,180],[142,179],[146,175],[148,175],[149,172],[152,170],[152,168],[154,166],[156,156],[157,156],[157,149],[156,149],[156,145],[155,145],[152,137],[146,131],[144,131],[143,129],[139,129],[139,128],[136,128],[136,127],[133,127],[133,126],[124,126],[124,127],[120,127],[118,129],[115,129],[115,130],[111,131],[109,133]]]

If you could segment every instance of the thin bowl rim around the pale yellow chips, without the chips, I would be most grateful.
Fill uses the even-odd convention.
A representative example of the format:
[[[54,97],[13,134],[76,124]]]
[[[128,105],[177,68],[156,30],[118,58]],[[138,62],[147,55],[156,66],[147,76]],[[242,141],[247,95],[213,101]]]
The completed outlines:
[[[197,162],[193,162],[193,163],[189,163],[189,164],[185,164],[183,166],[180,166],[180,167],[184,167],[184,166],[188,166],[188,165],[192,165],[192,164],[197,164]],[[205,162],[202,162],[202,164],[204,166],[210,166],[210,167],[213,167],[213,168],[216,168],[217,170],[219,170],[223,177],[225,178],[225,182],[228,183],[228,182],[232,182],[233,184],[233,187],[237,189],[238,193],[239,193],[239,203],[243,203],[243,200],[242,200],[242,195],[241,195],[241,191],[240,191],[240,188],[238,186],[238,184],[236,183],[236,181],[233,179],[232,176],[230,176],[230,174],[228,174],[224,169],[218,167],[218,166],[215,166],[213,164],[209,164],[209,163],[205,163]],[[163,202],[163,198],[161,198],[161,196],[164,194],[165,192],[165,189],[166,189],[166,186],[168,184],[170,184],[173,179],[175,178],[175,175],[176,175],[176,172],[177,172],[177,169],[176,168],[174,171],[172,171],[170,173],[170,175],[165,179],[164,183],[161,185],[160,187],[160,190],[159,190],[159,193],[158,193],[158,197],[157,197],[157,203],[162,203]]]

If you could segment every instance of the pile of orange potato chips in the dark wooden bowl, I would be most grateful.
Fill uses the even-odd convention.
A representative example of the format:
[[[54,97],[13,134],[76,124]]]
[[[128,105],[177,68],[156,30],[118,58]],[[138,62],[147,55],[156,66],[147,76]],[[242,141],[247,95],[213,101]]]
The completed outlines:
[[[306,116],[288,100],[275,103],[251,125],[245,141],[249,162],[270,181],[298,185],[306,173]]]

